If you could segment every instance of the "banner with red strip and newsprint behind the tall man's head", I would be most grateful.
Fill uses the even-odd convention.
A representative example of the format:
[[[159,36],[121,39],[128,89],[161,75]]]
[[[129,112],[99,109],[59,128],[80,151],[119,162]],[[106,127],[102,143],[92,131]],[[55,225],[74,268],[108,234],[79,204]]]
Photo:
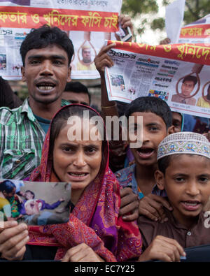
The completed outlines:
[[[48,24],[73,42],[71,78],[99,78],[94,57],[118,31],[121,6],[122,0],[0,0],[0,75],[21,79],[20,45],[31,28]]]

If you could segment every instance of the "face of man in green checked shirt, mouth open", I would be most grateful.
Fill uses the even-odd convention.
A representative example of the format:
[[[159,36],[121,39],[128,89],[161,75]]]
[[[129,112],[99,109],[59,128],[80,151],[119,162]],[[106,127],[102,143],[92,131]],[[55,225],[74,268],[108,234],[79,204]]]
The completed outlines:
[[[53,103],[62,98],[71,68],[66,51],[57,45],[27,52],[22,80],[27,82],[30,103]]]

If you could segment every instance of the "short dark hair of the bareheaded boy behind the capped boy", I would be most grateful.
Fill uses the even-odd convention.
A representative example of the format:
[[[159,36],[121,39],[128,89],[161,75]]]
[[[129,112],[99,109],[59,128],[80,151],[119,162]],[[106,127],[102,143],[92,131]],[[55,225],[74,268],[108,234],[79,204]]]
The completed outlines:
[[[163,119],[167,129],[172,126],[172,110],[167,103],[160,98],[153,96],[139,97],[132,101],[125,111],[128,118],[134,112],[152,112]]]

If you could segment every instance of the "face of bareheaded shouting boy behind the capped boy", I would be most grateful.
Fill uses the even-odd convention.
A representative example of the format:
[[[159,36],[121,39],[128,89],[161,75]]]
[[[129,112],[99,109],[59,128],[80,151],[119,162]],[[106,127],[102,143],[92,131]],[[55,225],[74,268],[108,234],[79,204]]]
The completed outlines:
[[[139,148],[133,148],[132,153],[136,164],[151,166],[157,164],[158,145],[167,136],[168,131],[163,119],[153,112],[134,112],[134,123],[143,117],[143,143]]]

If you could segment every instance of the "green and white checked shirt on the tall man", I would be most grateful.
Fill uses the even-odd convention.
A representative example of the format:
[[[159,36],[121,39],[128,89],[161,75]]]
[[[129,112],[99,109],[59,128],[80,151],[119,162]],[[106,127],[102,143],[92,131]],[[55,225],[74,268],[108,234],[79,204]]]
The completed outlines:
[[[62,106],[68,104],[62,100]],[[0,178],[28,177],[40,164],[44,139],[27,99],[19,108],[0,108]]]

